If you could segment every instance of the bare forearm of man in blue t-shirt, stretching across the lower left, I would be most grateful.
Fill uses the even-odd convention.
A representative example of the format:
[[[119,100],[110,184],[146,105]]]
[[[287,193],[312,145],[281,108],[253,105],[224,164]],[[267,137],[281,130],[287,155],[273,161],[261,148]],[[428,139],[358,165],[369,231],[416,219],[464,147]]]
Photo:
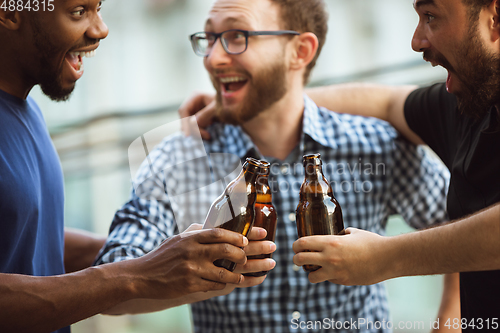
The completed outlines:
[[[52,277],[0,274],[2,332],[51,332],[131,297],[118,265]]]

